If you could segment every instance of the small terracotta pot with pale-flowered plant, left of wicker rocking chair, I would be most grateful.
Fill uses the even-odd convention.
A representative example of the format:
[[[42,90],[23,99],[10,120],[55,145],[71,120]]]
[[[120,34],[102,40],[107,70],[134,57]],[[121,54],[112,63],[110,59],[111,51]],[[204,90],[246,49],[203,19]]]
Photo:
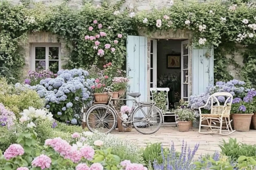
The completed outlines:
[[[177,108],[174,113],[178,115],[178,126],[180,132],[188,132],[190,129],[190,122],[195,120],[194,111],[189,108]]]

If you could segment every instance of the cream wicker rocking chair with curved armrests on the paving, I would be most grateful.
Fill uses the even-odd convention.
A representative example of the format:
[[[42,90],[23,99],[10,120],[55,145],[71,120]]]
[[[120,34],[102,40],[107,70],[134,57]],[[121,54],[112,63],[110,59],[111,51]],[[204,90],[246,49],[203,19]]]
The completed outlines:
[[[218,96],[227,96],[227,99],[224,102],[224,105],[220,105],[218,101]],[[211,99],[211,113],[210,114],[202,114],[201,109],[208,105]],[[217,103],[217,105],[213,105],[213,102]],[[199,107],[199,115],[200,115],[200,122],[199,122],[199,133],[202,134],[212,134],[212,133],[219,133],[220,135],[230,135],[234,133],[235,130],[231,127],[230,121],[230,111],[231,105],[233,101],[233,96],[228,92],[217,92],[213,93],[209,99],[207,100],[204,106]],[[228,103],[229,102],[229,103]],[[208,125],[202,125],[202,121],[207,121]],[[212,125],[212,123],[214,125]],[[216,124],[219,123],[219,126]],[[222,124],[226,124],[226,126],[222,126]],[[211,131],[201,132],[201,127],[209,127]],[[215,129],[212,129],[215,128]],[[222,128],[226,128],[223,130]],[[228,131],[228,133],[223,133],[223,131]]]

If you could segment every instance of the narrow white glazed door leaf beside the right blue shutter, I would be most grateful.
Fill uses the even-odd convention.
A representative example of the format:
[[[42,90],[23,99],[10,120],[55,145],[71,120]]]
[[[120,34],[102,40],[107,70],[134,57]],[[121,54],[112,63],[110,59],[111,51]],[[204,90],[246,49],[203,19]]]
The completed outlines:
[[[182,41],[181,42],[181,94],[180,94],[180,96],[181,96],[181,99],[187,99],[187,101],[189,101],[190,100],[190,98],[189,98],[189,95],[190,95],[190,87],[189,87],[189,82],[190,82],[190,73],[189,73],[189,71],[190,71],[190,60],[189,60],[189,55],[190,55],[190,50],[188,49],[188,54],[186,54],[186,55],[183,55],[183,44],[187,44],[188,45],[188,48],[189,48],[189,40],[186,40],[186,41]],[[183,57],[184,56],[187,56],[187,59],[188,59],[188,68],[186,68],[186,69],[184,69],[184,67],[183,67]],[[186,83],[184,83],[185,81],[183,80],[183,77],[184,77],[184,75],[183,75],[183,71],[184,70],[187,70],[187,72],[188,72],[188,77],[187,77],[187,80],[185,80],[186,81]],[[187,97],[183,97],[184,96],[184,94],[183,94],[183,90],[184,90],[184,84],[187,84]]]

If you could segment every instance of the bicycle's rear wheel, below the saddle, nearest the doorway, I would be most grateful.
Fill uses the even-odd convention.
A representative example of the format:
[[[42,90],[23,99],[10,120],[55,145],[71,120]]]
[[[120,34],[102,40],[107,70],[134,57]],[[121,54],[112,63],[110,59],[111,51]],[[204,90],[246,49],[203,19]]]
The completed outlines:
[[[143,112],[145,115],[143,114]],[[133,127],[142,134],[157,132],[163,122],[163,114],[155,105],[145,104],[136,108],[132,114]]]

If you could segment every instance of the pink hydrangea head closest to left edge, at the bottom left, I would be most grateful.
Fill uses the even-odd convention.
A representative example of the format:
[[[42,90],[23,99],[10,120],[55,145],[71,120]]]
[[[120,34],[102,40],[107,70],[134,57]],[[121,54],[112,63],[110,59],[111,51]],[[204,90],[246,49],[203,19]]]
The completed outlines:
[[[22,148],[21,145],[12,144],[3,153],[3,156],[4,156],[4,158],[6,158],[6,160],[9,160],[9,159],[14,158],[16,156],[21,156],[23,154],[24,154],[24,149]]]

